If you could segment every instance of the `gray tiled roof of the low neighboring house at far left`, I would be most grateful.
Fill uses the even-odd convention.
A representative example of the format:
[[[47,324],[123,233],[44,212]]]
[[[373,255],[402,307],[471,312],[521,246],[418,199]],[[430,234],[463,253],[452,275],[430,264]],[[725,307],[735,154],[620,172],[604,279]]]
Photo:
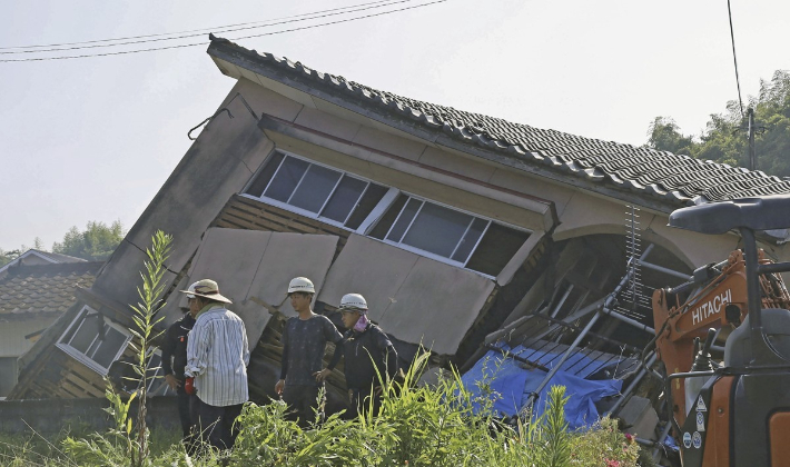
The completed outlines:
[[[58,316],[73,305],[75,288],[93,284],[101,262],[14,266],[0,279],[0,321]]]

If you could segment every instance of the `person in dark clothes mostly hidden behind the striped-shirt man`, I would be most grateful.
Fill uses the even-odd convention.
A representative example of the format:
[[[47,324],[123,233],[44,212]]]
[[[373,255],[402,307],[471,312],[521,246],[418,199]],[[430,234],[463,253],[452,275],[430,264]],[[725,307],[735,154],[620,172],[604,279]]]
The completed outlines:
[[[194,291],[190,286],[190,291]],[[195,298],[194,295],[187,294],[187,298]],[[181,430],[184,433],[184,444],[187,450],[192,450],[192,417],[190,415],[190,398],[184,388],[184,368],[187,365],[187,341],[189,331],[195,326],[195,315],[200,310],[197,305],[192,305],[195,300],[189,300],[189,311],[184,314],[181,319],[177,320],[167,329],[161,345],[161,368],[165,374],[165,381],[176,391],[178,397],[178,416],[181,420]]]

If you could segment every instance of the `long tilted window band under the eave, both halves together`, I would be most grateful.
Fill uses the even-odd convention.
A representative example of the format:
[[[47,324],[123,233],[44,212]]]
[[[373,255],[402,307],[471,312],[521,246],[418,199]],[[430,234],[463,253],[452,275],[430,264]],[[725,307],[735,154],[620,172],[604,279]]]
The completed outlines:
[[[245,193],[492,277],[530,237],[282,151],[269,158]]]

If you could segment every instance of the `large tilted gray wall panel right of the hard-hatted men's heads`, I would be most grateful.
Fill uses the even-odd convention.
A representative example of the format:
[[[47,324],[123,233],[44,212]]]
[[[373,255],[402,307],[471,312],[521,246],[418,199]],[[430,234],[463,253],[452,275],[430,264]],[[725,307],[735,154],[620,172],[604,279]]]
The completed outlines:
[[[318,299],[338,306],[344,294],[362,294],[385,331],[453,355],[493,289],[475,272],[352,235]]]

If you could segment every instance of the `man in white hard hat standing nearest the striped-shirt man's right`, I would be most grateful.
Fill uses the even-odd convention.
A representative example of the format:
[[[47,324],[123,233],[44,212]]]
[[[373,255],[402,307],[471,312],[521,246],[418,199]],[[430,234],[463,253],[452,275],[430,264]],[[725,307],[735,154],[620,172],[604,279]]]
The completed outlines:
[[[288,405],[288,418],[306,427],[320,419],[323,403],[318,395],[324,380],[318,379],[324,367],[326,342],[343,338],[329,318],[313,312],[315,286],[306,277],[294,278],[288,285],[290,306],[298,316],[289,318],[283,330],[283,364],[275,391]]]

